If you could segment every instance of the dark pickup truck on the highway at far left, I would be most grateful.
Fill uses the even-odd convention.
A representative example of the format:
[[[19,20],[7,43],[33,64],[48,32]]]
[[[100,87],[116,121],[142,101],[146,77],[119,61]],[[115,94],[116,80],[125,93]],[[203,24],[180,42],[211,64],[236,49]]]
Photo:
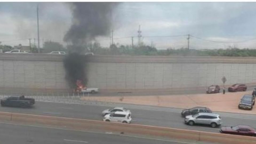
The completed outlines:
[[[11,96],[1,99],[1,106],[30,107],[35,104],[35,99],[22,96]]]

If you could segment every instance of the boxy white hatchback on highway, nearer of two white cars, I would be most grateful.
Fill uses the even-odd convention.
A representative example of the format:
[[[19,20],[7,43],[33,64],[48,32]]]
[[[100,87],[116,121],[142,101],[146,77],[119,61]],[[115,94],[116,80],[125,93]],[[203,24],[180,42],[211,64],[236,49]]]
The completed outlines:
[[[127,112],[116,111],[114,113],[105,115],[103,121],[131,123],[131,114]]]

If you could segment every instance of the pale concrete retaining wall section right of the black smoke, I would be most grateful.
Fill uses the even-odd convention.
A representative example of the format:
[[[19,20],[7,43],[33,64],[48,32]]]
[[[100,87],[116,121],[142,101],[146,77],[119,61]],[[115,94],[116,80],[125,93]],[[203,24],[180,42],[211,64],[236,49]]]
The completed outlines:
[[[223,76],[226,85],[256,82],[255,58],[142,56],[91,61],[89,84],[101,89],[206,87],[222,85]]]

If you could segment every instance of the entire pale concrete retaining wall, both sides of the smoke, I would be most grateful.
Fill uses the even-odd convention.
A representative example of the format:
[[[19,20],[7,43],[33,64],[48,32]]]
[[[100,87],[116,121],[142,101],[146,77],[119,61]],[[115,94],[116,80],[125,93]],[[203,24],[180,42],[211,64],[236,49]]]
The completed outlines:
[[[0,87],[68,89],[63,55],[0,54]],[[88,86],[172,89],[255,83],[256,59],[244,57],[88,56]]]

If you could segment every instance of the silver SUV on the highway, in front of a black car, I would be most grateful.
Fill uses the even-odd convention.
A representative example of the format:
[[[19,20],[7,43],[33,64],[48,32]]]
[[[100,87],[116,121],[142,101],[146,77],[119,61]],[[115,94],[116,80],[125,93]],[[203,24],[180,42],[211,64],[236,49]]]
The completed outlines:
[[[218,114],[212,113],[198,113],[195,115],[188,115],[184,119],[186,124],[194,125],[194,124],[206,124],[211,127],[216,127],[221,125],[221,117]]]

